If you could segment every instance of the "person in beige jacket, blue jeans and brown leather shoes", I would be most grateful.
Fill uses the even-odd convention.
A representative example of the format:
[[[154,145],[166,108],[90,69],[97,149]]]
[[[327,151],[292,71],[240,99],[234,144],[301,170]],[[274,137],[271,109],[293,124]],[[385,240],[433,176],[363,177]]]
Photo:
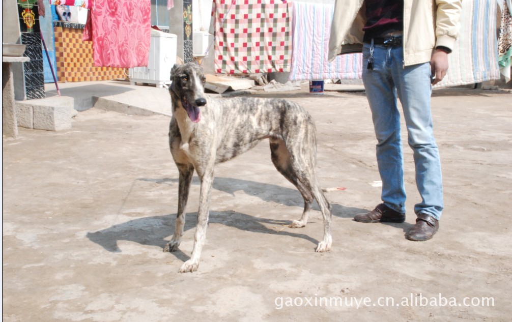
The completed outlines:
[[[336,1],[329,40],[329,60],[361,52],[362,80],[372,112],[376,155],[382,180],[382,203],[356,214],[364,223],[406,218],[403,153],[400,137],[402,104],[408,143],[414,153],[416,186],[421,196],[412,241],[431,239],[443,210],[439,150],[433,134],[432,85],[446,75],[448,54],[460,29],[461,0]]]

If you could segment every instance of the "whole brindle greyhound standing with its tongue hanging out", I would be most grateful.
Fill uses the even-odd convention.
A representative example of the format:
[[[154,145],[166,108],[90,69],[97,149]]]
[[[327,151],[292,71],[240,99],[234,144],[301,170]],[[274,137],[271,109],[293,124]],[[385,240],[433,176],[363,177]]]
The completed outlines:
[[[316,251],[330,250],[331,205],[316,179],[316,129],[311,115],[300,105],[283,99],[208,97],[204,94],[204,72],[196,63],[175,65],[170,73],[173,118],[169,145],[179,171],[179,188],[176,228],[164,251],[176,251],[180,245],[194,169],[201,180],[194,249],[180,272],[193,272],[199,266],[215,165],[248,151],[266,138],[270,140],[273,164],[304,198],[302,217],[290,227],[306,226],[316,200],[324,219],[324,239]]]

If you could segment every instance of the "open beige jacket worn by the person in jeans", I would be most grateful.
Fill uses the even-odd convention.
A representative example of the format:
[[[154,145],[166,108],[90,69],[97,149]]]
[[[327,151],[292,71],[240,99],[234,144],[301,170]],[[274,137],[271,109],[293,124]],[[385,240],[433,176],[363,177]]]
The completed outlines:
[[[403,57],[406,66],[430,61],[434,48],[454,48],[462,0],[404,0]],[[329,61],[362,50],[364,0],[336,0],[329,39]]]

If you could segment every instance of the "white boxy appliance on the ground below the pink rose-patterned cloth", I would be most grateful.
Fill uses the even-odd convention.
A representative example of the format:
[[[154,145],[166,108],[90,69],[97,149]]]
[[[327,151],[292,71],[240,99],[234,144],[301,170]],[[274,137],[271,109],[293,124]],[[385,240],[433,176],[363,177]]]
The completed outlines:
[[[148,66],[130,68],[130,83],[156,84],[159,88],[170,84],[170,70],[176,63],[177,42],[178,36],[175,34],[152,29]]]

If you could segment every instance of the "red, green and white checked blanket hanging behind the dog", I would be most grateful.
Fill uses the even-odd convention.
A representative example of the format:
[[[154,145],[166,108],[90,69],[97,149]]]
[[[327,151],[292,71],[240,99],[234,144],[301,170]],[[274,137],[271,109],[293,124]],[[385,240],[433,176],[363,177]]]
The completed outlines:
[[[289,72],[291,4],[281,0],[214,0],[216,73]]]

